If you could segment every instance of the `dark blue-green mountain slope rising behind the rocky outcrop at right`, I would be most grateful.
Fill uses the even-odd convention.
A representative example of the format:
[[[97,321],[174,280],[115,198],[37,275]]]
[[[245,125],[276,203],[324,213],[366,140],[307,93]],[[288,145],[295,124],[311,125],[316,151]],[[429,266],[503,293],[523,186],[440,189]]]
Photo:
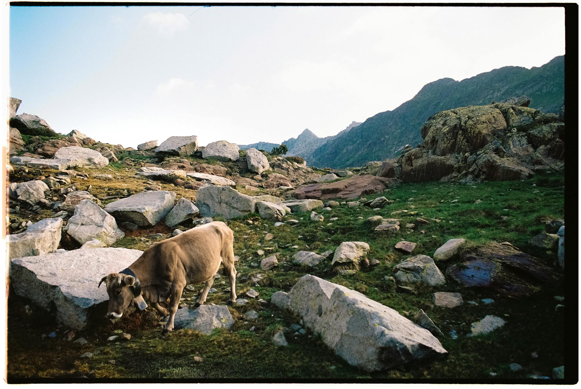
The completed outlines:
[[[565,57],[558,56],[532,69],[505,66],[462,81],[433,81],[396,109],[378,113],[321,144],[310,153],[311,158],[306,158],[307,163],[340,168],[393,157],[404,145],[415,147],[422,141],[419,130],[430,116],[459,106],[485,105],[527,95],[531,108],[556,113],[564,102],[564,62]]]

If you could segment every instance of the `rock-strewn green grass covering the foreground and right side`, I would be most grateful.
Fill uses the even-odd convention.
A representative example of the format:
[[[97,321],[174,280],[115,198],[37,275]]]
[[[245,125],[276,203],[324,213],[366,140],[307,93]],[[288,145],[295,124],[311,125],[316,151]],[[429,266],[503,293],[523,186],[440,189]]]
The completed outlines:
[[[536,186],[533,187],[533,184]],[[554,311],[558,304],[554,296],[564,295],[562,283],[554,287],[546,286],[536,295],[522,299],[461,288],[451,280],[440,288],[417,287],[417,294],[413,295],[400,292],[386,276],[391,276],[393,266],[408,256],[393,250],[401,239],[417,243],[413,255],[429,256],[451,238],[465,238],[469,247],[487,241],[508,241],[522,251],[554,264],[554,252],[533,247],[529,240],[544,230],[544,220],[564,217],[563,185],[562,174],[554,173],[537,175],[525,181],[480,183],[475,187],[450,183],[403,184],[380,194],[365,196],[370,200],[385,195],[394,200],[392,205],[378,211],[363,206],[347,208],[342,205],[331,211],[322,211],[325,217],[323,222],[311,221],[310,213],[289,215],[288,219],[299,220],[297,226],[284,224],[274,227],[274,222],[262,220],[256,214],[228,221],[234,231],[235,255],[240,258],[236,262],[238,298],[247,298],[245,292],[253,288],[260,294],[257,299],[268,301],[275,291],[289,291],[304,274],[313,274],[360,291],[409,319],[423,309],[444,333],[440,341],[449,354],[443,358],[368,373],[348,365],[310,331],[304,336],[287,333],[289,347],[277,347],[270,341],[272,334],[281,327],[299,323],[300,317],[252,298],[248,298],[246,305],[229,306],[235,319],[231,331],[215,331],[210,336],[178,330],[163,338],[160,335],[161,326],[143,320],[142,313],[131,313],[116,323],[80,333],[79,336],[89,340],[85,346],[60,340],[60,333],[56,339],[40,341],[40,335],[53,331],[56,325],[46,317],[35,320],[34,315],[24,314],[23,306],[27,302],[11,294],[9,380],[27,377],[58,379],[78,374],[96,379],[149,377],[289,381],[491,379],[491,372],[501,379],[522,379],[529,374],[551,376],[553,367],[564,363],[564,319],[562,314]],[[407,201],[409,198],[414,200]],[[454,199],[458,201],[452,203]],[[474,204],[478,199],[482,202]],[[404,209],[408,213],[418,213],[391,215],[393,211]],[[416,217],[430,221],[440,219],[440,222],[417,224],[411,233],[406,233],[406,229],[402,228],[394,235],[379,235],[371,224],[365,222],[367,217],[374,215],[396,217],[400,219],[401,226],[417,224]],[[501,216],[508,219],[502,220]],[[331,217],[339,219],[329,225]],[[425,233],[421,233],[422,230]],[[274,239],[264,241],[267,232],[274,234]],[[328,249],[334,250],[343,241],[368,242],[371,247],[368,258],[376,258],[380,264],[371,269],[362,268],[353,276],[341,276],[331,271],[331,260],[324,260],[314,268],[292,263],[292,255],[299,250],[321,254]],[[299,248],[292,248],[294,245]],[[125,237],[116,246],[144,249],[146,244],[140,237]],[[257,255],[257,249],[264,250],[265,254]],[[253,263],[259,264],[261,259],[275,253],[278,253],[278,267],[261,270],[260,266],[253,266]],[[454,260],[437,265],[445,273],[451,263]],[[257,274],[263,274],[262,279],[252,282]],[[224,284],[221,283],[223,281]],[[202,284],[195,287],[196,292],[184,292],[186,304],[193,304]],[[217,292],[208,295],[206,304],[225,304],[229,297],[225,290],[229,287],[227,278],[222,276],[217,279],[213,287]],[[461,292],[465,303],[454,309],[437,308],[432,304],[433,291]],[[493,298],[495,302],[491,305],[468,304],[468,301],[482,298]],[[244,319],[243,314],[251,309],[259,312],[259,319]],[[503,317],[507,323],[487,336],[466,337],[471,323],[486,315]],[[26,324],[29,327],[21,327]],[[250,331],[251,327],[254,327],[253,331]],[[131,340],[120,344],[106,342],[106,338],[117,329],[131,333]],[[452,330],[460,338],[452,339],[449,335]],[[95,350],[100,351],[95,358],[78,359],[82,352]],[[537,352],[538,358],[532,358],[532,352]],[[193,356],[202,356],[204,361],[194,362]],[[114,359],[116,364],[108,363],[110,359]],[[519,363],[523,370],[511,372],[508,369],[510,363]]]

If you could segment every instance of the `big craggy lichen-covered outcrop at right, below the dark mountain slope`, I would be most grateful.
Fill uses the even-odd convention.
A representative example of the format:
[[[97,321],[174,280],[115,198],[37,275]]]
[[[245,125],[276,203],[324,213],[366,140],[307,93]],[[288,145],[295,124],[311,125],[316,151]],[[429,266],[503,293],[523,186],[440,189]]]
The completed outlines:
[[[383,161],[377,176],[414,183],[504,181],[525,179],[543,166],[562,169],[564,124],[528,102],[518,97],[436,113],[421,128],[424,142]]]

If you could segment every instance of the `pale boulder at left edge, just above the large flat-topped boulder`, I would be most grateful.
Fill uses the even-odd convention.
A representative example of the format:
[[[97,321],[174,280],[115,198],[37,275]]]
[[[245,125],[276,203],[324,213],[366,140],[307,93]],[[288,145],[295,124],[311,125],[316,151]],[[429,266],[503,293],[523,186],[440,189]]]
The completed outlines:
[[[34,223],[20,234],[7,235],[8,258],[45,255],[59,248],[63,219],[54,217]]]

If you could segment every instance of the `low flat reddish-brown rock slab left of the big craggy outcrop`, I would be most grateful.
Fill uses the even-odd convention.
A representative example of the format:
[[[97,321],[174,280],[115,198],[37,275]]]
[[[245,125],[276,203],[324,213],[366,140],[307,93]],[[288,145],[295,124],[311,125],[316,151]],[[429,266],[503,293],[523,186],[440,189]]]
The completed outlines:
[[[352,199],[367,194],[383,191],[385,188],[393,186],[397,180],[385,179],[376,176],[352,176],[348,179],[336,181],[328,184],[301,185],[286,194],[288,197],[297,199]]]

